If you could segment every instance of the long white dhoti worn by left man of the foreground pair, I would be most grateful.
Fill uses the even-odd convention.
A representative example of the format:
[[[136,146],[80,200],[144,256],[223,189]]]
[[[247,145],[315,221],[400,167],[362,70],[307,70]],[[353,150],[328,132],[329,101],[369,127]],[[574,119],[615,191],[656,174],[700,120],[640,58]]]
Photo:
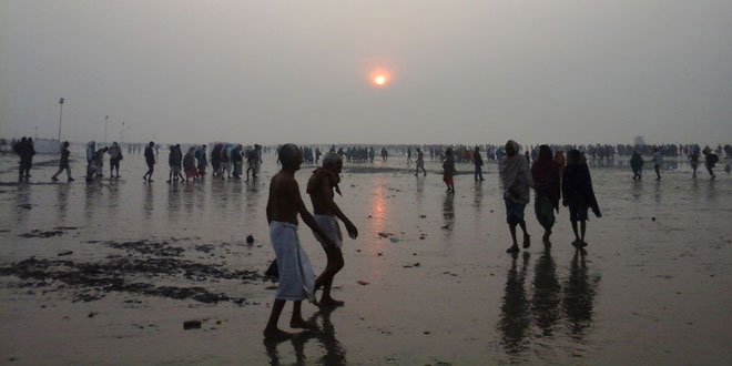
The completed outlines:
[[[307,254],[299,245],[297,225],[273,221],[270,223],[270,240],[277,256],[279,284],[276,299],[314,299],[315,273]]]

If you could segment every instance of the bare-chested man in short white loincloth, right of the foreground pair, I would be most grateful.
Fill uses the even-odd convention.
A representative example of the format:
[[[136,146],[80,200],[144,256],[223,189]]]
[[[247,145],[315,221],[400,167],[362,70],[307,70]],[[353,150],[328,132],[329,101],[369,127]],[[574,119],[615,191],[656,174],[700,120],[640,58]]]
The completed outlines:
[[[342,306],[344,303],[336,301],[331,296],[331,287],[333,286],[333,278],[343,268],[343,234],[340,234],[340,226],[338,226],[339,218],[346,225],[346,231],[350,238],[358,236],[358,230],[348,217],[340,211],[338,205],[333,201],[335,190],[340,195],[338,182],[340,182],[340,169],[343,167],[343,160],[337,154],[328,153],[323,157],[323,167],[318,167],[313,172],[313,175],[307,181],[307,194],[311,196],[313,203],[313,218],[321,230],[328,236],[331,242],[335,245],[328,245],[323,241],[319,235],[315,237],[321,242],[323,250],[327,256],[327,265],[323,273],[315,281],[315,291],[323,287],[323,296],[318,302],[318,306]]]

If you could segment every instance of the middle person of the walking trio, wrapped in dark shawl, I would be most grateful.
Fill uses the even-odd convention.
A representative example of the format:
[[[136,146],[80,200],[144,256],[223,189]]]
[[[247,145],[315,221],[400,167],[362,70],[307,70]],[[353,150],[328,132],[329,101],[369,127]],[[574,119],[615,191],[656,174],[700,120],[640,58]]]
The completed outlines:
[[[539,156],[531,165],[531,177],[533,179],[533,211],[541,227],[543,227],[543,244],[551,245],[549,235],[555,225],[555,210],[559,212],[559,163],[551,156],[548,145],[539,146]]]

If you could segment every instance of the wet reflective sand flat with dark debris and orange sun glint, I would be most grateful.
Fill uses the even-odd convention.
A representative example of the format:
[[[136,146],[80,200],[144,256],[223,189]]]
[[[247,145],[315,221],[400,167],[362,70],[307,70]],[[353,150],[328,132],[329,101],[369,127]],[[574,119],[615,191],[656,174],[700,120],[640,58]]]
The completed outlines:
[[[72,163],[79,176],[81,165]],[[563,207],[545,248],[529,205],[532,247],[511,256],[495,164],[482,183],[456,176],[454,196],[438,162],[427,162],[427,177],[401,159],[348,164],[337,202],[360,236],[345,241],[334,283],[346,306],[304,305],[321,329],[268,344],[261,331],[275,283],[262,274],[274,257],[264,215],[274,156],[255,183],[169,185],[159,165],[145,184],[143,165],[126,155],[122,179],[92,185],[45,183],[55,167],[44,166],[18,184],[14,159],[0,157],[0,363],[732,359],[732,177],[721,171],[694,181],[678,164],[660,182],[650,171],[633,182],[627,167],[592,167],[603,217],[588,223],[587,254],[570,246]],[[303,193],[311,170],[298,173]],[[307,228],[299,236],[322,271],[319,244]],[[201,328],[184,331],[194,319]]]

